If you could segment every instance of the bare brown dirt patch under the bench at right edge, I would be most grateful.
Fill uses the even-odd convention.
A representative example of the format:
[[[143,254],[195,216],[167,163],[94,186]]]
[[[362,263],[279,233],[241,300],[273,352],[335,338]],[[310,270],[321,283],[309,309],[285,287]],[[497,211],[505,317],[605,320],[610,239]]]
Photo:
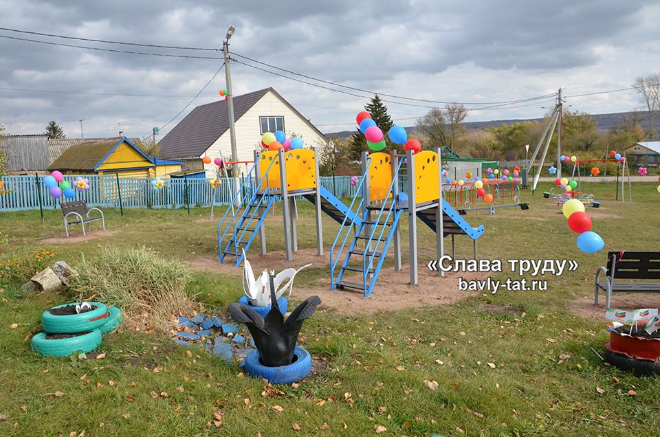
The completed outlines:
[[[613,293],[610,306],[622,310],[640,308],[660,308],[660,294],[654,293]],[[598,305],[593,304],[593,294],[582,296],[569,303],[573,313],[596,322],[605,322],[605,296],[598,296]]]

